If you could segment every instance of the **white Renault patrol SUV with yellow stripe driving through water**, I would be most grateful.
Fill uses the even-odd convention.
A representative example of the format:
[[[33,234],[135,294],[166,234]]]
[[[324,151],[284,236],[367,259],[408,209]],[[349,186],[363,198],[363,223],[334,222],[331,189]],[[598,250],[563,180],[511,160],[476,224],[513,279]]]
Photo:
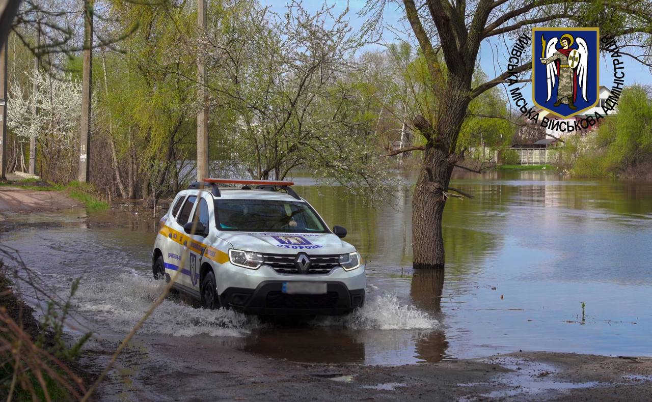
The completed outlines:
[[[363,306],[364,266],[346,229],[331,231],[292,184],[205,179],[179,192],[160,222],[154,277],[181,270],[173,287],[203,308],[336,315]]]

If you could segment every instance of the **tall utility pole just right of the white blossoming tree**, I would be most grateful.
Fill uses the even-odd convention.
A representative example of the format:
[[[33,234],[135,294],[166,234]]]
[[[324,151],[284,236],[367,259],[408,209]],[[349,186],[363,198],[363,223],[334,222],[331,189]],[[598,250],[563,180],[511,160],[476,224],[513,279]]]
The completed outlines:
[[[91,155],[91,74],[93,71],[93,0],[83,3],[83,78],[82,78],[82,122],[80,124],[80,169],[78,180],[89,182]]]

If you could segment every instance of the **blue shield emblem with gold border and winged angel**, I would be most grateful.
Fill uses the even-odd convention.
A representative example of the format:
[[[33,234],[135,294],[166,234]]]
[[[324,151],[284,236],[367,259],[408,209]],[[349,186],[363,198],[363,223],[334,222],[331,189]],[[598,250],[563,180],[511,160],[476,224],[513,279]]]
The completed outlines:
[[[532,98],[539,108],[568,118],[598,103],[599,38],[598,28],[532,29]]]

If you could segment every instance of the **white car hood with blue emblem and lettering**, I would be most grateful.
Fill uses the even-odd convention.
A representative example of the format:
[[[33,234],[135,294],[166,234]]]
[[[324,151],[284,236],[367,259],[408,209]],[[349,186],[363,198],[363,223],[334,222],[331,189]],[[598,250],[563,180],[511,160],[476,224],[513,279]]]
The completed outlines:
[[[296,254],[343,254],[355,251],[351,244],[333,233],[258,233],[220,232],[220,238],[230,242],[233,248],[257,253]]]

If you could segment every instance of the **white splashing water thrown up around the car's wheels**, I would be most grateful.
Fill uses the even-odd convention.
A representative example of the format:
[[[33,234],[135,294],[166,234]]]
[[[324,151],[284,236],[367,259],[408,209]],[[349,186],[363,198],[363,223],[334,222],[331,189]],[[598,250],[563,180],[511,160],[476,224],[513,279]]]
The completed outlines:
[[[84,283],[74,307],[92,313],[115,332],[128,332],[163,291],[165,284],[140,274],[120,274],[111,281]],[[376,293],[376,292],[372,292]],[[341,326],[353,330],[436,329],[439,323],[414,306],[402,304],[395,294],[368,294],[364,307],[338,317],[318,317],[314,326]],[[263,327],[256,317],[230,309],[205,310],[166,298],[145,321],[140,332],[170,336],[247,336]]]

